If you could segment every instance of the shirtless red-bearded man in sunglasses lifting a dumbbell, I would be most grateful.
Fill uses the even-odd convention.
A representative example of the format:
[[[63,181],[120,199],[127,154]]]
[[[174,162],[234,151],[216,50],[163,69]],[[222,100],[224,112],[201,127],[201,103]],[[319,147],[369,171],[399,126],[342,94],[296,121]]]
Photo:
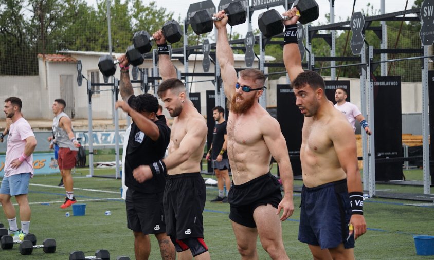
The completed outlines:
[[[286,141],[276,119],[258,103],[263,94],[265,76],[257,69],[237,72],[227,38],[227,16],[214,22],[218,30],[217,59],[220,64],[225,94],[231,100],[227,122],[227,152],[233,185],[228,194],[229,218],[237,238],[242,259],[258,259],[256,241],[272,259],[288,259],[280,221],[294,212],[293,172]],[[284,196],[276,177],[269,172],[274,157],[279,164]],[[279,217],[280,211],[283,214]],[[280,221],[279,221],[280,220]]]

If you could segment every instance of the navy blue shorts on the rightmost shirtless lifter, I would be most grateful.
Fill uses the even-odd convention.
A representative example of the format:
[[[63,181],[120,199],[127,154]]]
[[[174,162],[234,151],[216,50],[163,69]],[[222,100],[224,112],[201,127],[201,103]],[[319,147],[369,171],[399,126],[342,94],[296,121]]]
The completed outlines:
[[[342,242],[345,248],[354,248],[354,236],[347,241],[351,207],[346,179],[313,188],[303,185],[300,208],[298,240],[321,249]]]

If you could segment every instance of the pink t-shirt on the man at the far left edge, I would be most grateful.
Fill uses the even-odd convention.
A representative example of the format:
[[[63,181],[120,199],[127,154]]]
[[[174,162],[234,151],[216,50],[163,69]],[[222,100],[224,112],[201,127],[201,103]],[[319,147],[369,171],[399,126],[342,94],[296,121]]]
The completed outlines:
[[[34,137],[34,134],[26,119],[20,118],[11,124],[6,150],[5,177],[20,173],[31,173],[30,177],[33,178],[33,154],[27,157],[18,168],[13,169],[11,167],[12,161],[23,154],[26,138],[30,136]]]

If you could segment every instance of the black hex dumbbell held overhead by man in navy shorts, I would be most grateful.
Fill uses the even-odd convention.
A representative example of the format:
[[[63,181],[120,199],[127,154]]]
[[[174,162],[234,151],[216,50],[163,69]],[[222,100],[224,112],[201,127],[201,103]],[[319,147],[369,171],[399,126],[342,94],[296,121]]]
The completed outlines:
[[[300,12],[300,23],[307,24],[318,19],[319,8],[315,0],[296,0],[294,7]],[[270,9],[259,15],[258,27],[265,37],[270,38],[283,32],[283,22],[288,19],[290,18],[282,17],[276,9]]]

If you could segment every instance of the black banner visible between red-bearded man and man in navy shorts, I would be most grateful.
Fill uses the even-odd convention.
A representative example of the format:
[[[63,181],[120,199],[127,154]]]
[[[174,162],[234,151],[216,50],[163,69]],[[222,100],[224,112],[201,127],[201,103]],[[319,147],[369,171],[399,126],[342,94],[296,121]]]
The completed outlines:
[[[300,147],[304,116],[295,105],[290,85],[277,85],[277,121],[286,139],[294,176],[301,175]]]

